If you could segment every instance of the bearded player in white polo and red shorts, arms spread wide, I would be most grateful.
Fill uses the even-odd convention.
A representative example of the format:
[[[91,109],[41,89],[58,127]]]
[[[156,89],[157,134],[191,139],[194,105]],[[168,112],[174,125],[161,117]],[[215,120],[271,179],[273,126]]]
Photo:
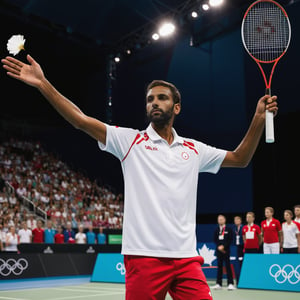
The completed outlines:
[[[178,300],[212,299],[196,251],[198,173],[246,167],[264,130],[265,110],[277,113],[276,96],[259,99],[244,139],[234,151],[225,151],[177,135],[173,123],[181,111],[181,96],[168,82],[149,84],[150,125],[138,131],[85,115],[51,85],[30,55],[27,60],[29,64],[6,57],[2,63],[9,76],[36,87],[68,122],[121,161],[126,299],[164,299],[167,292]]]

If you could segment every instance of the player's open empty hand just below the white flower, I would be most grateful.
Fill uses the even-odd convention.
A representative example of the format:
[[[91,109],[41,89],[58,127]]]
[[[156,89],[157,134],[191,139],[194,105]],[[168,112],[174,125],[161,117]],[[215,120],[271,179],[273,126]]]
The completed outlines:
[[[1,60],[3,68],[7,70],[7,75],[38,88],[45,78],[43,70],[30,55],[27,55],[27,61],[29,64],[25,64],[11,56]]]

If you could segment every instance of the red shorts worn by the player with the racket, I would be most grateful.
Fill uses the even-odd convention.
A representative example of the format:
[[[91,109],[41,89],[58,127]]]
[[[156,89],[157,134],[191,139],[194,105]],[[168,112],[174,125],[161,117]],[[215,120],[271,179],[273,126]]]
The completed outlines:
[[[125,255],[126,300],[212,300],[201,256],[164,258]]]

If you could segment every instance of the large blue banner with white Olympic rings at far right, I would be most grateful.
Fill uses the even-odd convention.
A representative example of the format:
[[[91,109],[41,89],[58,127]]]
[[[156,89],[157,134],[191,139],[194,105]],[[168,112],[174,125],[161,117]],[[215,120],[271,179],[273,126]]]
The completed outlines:
[[[300,292],[300,254],[245,254],[238,287]]]

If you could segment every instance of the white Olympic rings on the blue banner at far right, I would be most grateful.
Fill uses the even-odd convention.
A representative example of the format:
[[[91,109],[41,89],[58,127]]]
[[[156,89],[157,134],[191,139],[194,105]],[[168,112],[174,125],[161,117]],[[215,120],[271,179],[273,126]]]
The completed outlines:
[[[300,265],[294,269],[294,267],[289,264],[285,265],[283,268],[277,264],[273,264],[269,269],[269,274],[274,277],[279,284],[286,281],[290,284],[297,284],[300,282]]]

